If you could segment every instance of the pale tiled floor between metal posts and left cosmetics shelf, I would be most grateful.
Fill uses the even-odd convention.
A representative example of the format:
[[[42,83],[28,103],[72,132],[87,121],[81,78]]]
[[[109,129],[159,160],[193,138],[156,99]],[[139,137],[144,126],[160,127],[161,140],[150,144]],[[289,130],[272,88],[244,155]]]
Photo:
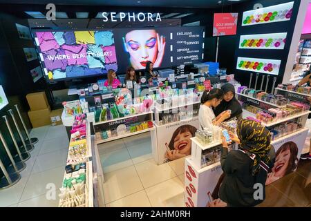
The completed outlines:
[[[21,180],[8,189],[0,190],[0,206],[58,205],[58,189],[68,155],[66,129],[64,126],[44,126],[33,129],[30,137],[37,137],[39,142],[30,152],[26,169],[21,171]]]

